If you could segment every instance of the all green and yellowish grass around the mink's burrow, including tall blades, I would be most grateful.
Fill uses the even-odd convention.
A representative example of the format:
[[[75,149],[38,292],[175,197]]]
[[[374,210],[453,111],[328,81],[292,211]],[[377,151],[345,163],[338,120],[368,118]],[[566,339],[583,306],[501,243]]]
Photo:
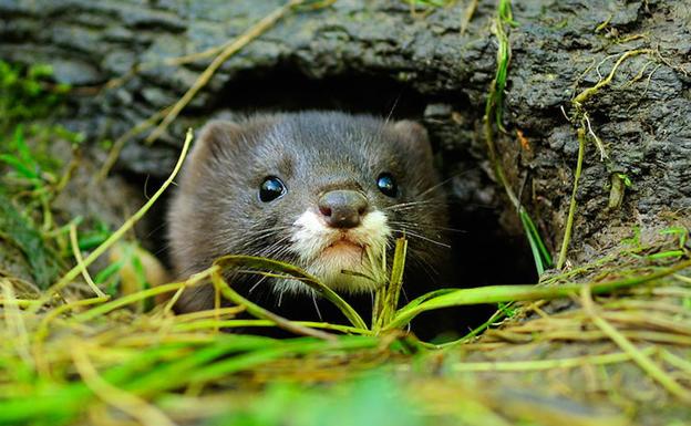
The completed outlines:
[[[551,263],[549,252],[507,184],[494,146],[494,127],[503,131],[502,104],[510,59],[506,31],[513,24],[510,3],[499,1],[497,73],[484,129],[497,177],[514,202],[542,273]],[[22,204],[0,198],[7,201],[0,202],[0,221],[6,220],[2,229],[14,232],[0,237],[22,248],[34,262],[35,282],[48,290],[27,293],[21,291],[21,280],[0,276],[0,424],[632,424],[636,411],[630,409],[630,401],[649,403],[651,393],[643,391],[639,399],[631,399],[631,389],[625,388],[630,386],[608,380],[610,376],[641,387],[653,383],[657,395],[667,397],[660,401],[671,404],[688,398],[691,253],[683,224],[663,229],[654,245],[641,242],[639,232],[628,247],[558,276],[543,276],[540,284],[440,289],[403,304],[400,292],[408,242],[399,239],[391,256],[381,259],[381,273],[371,277],[382,285],[370,324],[300,268],[245,256],[223,257],[188,280],[147,288],[144,262],[133,249],[125,260],[94,274],[95,291],[85,283],[90,280],[87,267],[122,243],[171,185],[190,135],[169,178],[135,215],[114,232],[97,225],[80,237],[80,218],[60,227],[45,220],[59,183],[70,175],[56,178],[62,168],[43,164],[23,139],[21,127],[3,133],[9,134],[13,145],[0,159],[32,191],[24,201],[39,200],[43,214],[32,215],[20,208]],[[581,163],[582,154],[577,166]],[[53,178],[48,177],[51,175]],[[578,174],[574,196],[577,183]],[[573,218],[574,201],[571,206]],[[51,239],[66,240],[68,235],[71,240],[53,250]],[[83,258],[82,250],[87,252]],[[50,259],[69,260],[74,267],[65,270],[59,262],[50,269]],[[117,281],[125,263],[134,266],[138,282],[130,292]],[[224,280],[221,272],[227,269],[301,280],[340,309],[343,322],[280,318],[238,294]],[[172,312],[181,291],[208,282],[217,290],[216,309],[179,315]],[[173,300],[154,305],[153,299],[163,293],[173,294]],[[551,314],[540,309],[556,299],[581,308]],[[221,301],[235,305],[220,308]],[[406,332],[422,313],[487,303],[497,304],[497,312],[457,341],[430,344]],[[240,319],[239,313],[250,318]],[[528,315],[533,318],[526,320]],[[244,328],[246,334],[220,331],[233,328]],[[256,328],[281,328],[296,336],[274,340],[252,335]],[[568,345],[559,343],[564,339]],[[569,347],[574,347],[571,352]],[[602,383],[607,395],[597,386],[595,394],[584,394],[579,386],[567,385],[568,376],[560,375],[565,371],[578,385]],[[470,374],[478,372],[495,375]],[[515,377],[505,381],[506,376],[496,375],[499,372],[526,374],[516,382]],[[538,376],[539,372],[546,374]],[[579,376],[578,372],[586,373]],[[529,397],[517,398],[512,393],[517,386]],[[597,396],[611,406],[626,404],[615,414],[590,413],[571,405],[571,399],[557,398],[564,396],[565,388],[576,401]],[[556,403],[547,404],[540,396],[544,393],[554,395]],[[681,405],[674,408],[682,411]],[[684,413],[678,418],[685,418]]]

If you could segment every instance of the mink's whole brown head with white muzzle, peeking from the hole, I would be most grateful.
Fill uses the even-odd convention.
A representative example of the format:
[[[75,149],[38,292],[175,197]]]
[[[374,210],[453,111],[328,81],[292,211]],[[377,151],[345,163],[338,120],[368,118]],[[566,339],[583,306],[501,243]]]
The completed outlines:
[[[179,278],[224,254],[250,254],[299,266],[338,292],[362,293],[377,289],[363,276],[378,276],[399,236],[409,239],[406,270],[433,271],[445,217],[421,125],[305,112],[207,124],[183,169],[168,229]],[[296,280],[228,278],[274,293],[311,291]],[[179,305],[212,303],[202,287]]]

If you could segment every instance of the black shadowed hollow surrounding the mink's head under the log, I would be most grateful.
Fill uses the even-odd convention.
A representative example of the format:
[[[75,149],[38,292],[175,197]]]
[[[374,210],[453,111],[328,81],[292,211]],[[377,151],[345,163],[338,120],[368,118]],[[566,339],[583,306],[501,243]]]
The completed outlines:
[[[457,104],[457,94],[450,94],[456,100],[455,107],[466,112],[468,116],[476,114],[471,107]],[[268,111],[299,110],[340,110],[351,113],[370,113],[392,118],[412,118],[422,122],[425,106],[429,103],[444,102],[440,98],[423,96],[414,90],[396,81],[358,75],[351,77],[329,77],[324,80],[308,79],[295,70],[278,67],[270,71],[256,71],[236,76],[216,96],[216,103],[208,105],[207,114],[219,111],[233,113],[251,113]],[[445,146],[443,141],[435,141],[435,146]],[[467,152],[444,153],[445,158],[463,159],[466,164],[474,163]],[[477,168],[475,166],[475,168]],[[485,179],[487,185],[491,184]],[[149,188],[152,187],[148,183]],[[448,185],[451,186],[451,185]],[[497,188],[497,191],[499,189]],[[487,284],[532,283],[536,281],[535,267],[527,241],[519,232],[507,232],[499,225],[499,214],[507,206],[483,206],[468,204],[465,199],[451,197],[450,226],[457,231],[451,232],[453,251],[450,261],[451,273],[440,282],[439,287],[470,288]],[[165,232],[161,228],[167,200],[157,205],[156,211],[149,215],[153,224],[148,229],[149,249],[166,258]],[[416,295],[408,292],[408,298]],[[266,298],[264,298],[266,299]],[[305,299],[305,298],[302,298]],[[367,299],[367,300],[364,300]],[[405,297],[401,298],[405,302]],[[281,308],[275,300],[257,301],[266,308],[290,313],[286,305],[300,305],[297,312],[311,312],[311,300],[283,298]],[[370,298],[357,303],[364,311],[369,310]],[[320,303],[324,313],[328,302]],[[473,328],[484,323],[495,311],[496,305],[460,306],[433,311],[420,315],[413,322],[414,332],[422,339],[431,340],[444,335],[446,339],[462,336]],[[293,312],[295,313],[295,312]],[[364,316],[363,312],[363,316]],[[295,314],[289,315],[297,319]],[[298,315],[299,316],[299,315]],[[338,314],[336,318],[340,318]]]

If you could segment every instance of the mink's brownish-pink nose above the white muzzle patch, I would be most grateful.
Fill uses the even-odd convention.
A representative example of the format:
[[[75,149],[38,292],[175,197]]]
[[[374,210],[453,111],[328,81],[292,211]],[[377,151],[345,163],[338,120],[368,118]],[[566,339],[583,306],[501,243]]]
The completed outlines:
[[[319,212],[332,228],[354,228],[368,208],[364,196],[355,190],[331,190],[319,198]]]

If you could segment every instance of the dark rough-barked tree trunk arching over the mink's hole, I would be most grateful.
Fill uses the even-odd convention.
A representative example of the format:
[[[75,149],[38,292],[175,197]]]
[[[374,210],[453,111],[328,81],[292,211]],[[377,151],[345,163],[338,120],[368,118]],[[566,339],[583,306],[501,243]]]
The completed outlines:
[[[128,143],[118,165],[166,175],[184,129],[221,111],[393,108],[429,127],[458,211],[504,206],[502,224],[519,230],[483,132],[496,4],[481,1],[464,25],[466,3],[412,11],[403,1],[340,0],[292,11],[225,62],[158,142],[142,144],[145,132]],[[212,58],[152,63],[221,45],[282,4],[2,0],[0,56],[52,64],[59,82],[75,86],[66,124],[94,143],[115,139],[175,103]],[[579,128],[573,259],[627,236],[622,227],[689,218],[689,2],[532,0],[513,12],[506,131],[495,139],[508,185],[550,251],[568,216]]]

